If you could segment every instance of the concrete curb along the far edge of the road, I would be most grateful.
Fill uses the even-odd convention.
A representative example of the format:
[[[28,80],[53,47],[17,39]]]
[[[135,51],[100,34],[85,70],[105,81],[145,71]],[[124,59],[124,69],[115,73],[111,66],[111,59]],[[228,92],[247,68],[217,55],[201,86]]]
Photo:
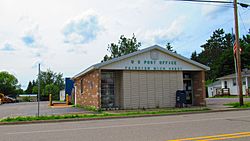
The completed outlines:
[[[3,126],[3,125],[22,125],[22,124],[39,124],[39,123],[74,122],[74,121],[92,121],[92,120],[109,120],[109,119],[124,119],[124,118],[142,118],[142,117],[157,117],[157,116],[176,116],[176,115],[191,115],[191,114],[217,113],[217,112],[230,112],[230,111],[245,111],[245,110],[250,110],[250,108],[192,111],[192,112],[180,112],[180,113],[169,113],[169,114],[109,116],[109,117],[101,117],[101,118],[72,118],[72,119],[57,119],[57,120],[34,120],[34,121],[18,121],[18,122],[0,122],[0,126]]]

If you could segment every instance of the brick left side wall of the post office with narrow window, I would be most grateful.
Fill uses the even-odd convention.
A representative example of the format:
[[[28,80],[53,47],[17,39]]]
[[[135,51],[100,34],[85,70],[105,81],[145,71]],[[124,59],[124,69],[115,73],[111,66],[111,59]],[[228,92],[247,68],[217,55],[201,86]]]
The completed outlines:
[[[81,79],[83,92],[81,93]],[[76,104],[100,108],[100,71],[89,72],[75,80]]]

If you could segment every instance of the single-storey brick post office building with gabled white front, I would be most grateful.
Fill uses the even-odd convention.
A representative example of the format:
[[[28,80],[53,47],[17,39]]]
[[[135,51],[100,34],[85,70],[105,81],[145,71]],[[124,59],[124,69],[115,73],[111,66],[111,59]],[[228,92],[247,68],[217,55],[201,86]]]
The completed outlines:
[[[176,91],[205,105],[209,67],[154,45],[95,64],[73,77],[75,104],[96,108],[174,107]]]

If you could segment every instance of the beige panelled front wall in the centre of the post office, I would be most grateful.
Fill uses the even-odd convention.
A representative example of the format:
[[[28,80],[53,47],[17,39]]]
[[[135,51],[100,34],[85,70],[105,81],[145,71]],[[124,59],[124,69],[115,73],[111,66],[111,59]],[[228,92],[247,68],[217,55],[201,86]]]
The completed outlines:
[[[180,71],[123,71],[122,85],[124,109],[174,107],[183,78]]]

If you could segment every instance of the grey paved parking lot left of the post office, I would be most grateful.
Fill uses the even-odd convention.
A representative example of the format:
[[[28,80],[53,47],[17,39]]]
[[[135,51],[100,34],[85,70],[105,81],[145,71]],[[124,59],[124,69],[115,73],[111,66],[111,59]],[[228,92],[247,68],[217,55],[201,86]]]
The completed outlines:
[[[47,101],[40,102],[40,115],[59,115],[67,113],[90,113],[83,109],[69,108],[51,108]],[[34,116],[37,115],[37,102],[21,102],[0,105],[0,118],[14,116]]]

